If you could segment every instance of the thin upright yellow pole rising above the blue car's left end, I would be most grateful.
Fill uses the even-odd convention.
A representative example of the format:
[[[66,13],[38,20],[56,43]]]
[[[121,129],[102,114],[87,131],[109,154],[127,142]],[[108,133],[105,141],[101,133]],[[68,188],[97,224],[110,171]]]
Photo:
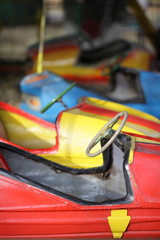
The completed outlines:
[[[46,26],[46,2],[45,2],[45,0],[43,0],[42,15],[41,15],[41,20],[40,20],[40,36],[39,36],[39,48],[38,48],[38,57],[37,57],[37,73],[41,73],[43,70],[45,26]]]

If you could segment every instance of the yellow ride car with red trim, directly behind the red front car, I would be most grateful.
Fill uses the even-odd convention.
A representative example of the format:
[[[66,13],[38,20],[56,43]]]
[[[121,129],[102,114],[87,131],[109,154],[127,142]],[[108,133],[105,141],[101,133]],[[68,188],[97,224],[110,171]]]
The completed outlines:
[[[6,136],[2,136],[1,141],[40,155],[48,162],[63,162],[69,167],[74,157],[79,156],[79,164],[87,162],[96,166],[98,158],[94,161],[88,158],[84,147],[98,129],[119,112],[115,109],[127,110],[129,114],[123,128],[125,132],[160,138],[158,119],[145,113],[140,117],[140,111],[128,107],[124,109],[121,105],[117,108],[116,105],[95,98],[83,98],[76,107],[62,111],[53,124],[0,102],[1,128],[5,133],[3,136]],[[114,129],[118,126],[117,123]]]

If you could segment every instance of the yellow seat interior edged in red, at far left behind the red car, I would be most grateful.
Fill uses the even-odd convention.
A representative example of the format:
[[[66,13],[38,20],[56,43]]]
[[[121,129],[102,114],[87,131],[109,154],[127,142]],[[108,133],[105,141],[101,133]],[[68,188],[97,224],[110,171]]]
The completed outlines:
[[[43,149],[55,145],[54,129],[4,110],[0,110],[0,117],[10,142],[29,149]]]

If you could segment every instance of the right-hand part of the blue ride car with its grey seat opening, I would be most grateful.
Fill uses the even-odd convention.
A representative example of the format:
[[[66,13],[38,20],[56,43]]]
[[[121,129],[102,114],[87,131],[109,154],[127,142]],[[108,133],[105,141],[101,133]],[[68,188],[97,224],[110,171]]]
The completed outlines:
[[[160,118],[160,73],[119,68],[112,74],[107,99]]]

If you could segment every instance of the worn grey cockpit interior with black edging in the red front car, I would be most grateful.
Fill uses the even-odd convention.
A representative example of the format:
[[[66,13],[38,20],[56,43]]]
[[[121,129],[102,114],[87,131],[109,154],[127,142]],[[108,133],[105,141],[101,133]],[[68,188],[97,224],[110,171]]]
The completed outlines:
[[[62,165],[49,166],[41,157],[0,143],[0,154],[11,169],[0,173],[82,204],[126,203],[131,201],[132,191],[126,168],[128,149],[123,148],[119,141],[111,145],[111,164],[106,170],[75,174]]]

